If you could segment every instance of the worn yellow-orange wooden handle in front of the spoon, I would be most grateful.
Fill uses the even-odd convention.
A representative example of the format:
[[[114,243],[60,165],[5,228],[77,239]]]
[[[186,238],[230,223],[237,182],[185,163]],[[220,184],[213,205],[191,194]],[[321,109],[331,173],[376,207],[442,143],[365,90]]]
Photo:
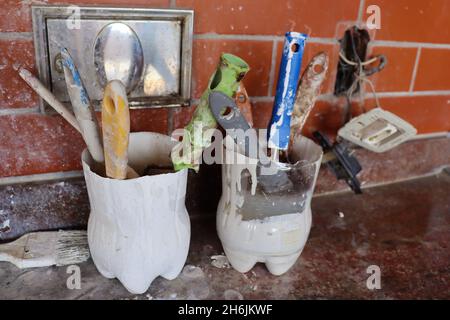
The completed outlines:
[[[106,85],[102,102],[102,128],[106,175],[113,179],[125,179],[130,111],[125,86],[119,80],[112,80]]]

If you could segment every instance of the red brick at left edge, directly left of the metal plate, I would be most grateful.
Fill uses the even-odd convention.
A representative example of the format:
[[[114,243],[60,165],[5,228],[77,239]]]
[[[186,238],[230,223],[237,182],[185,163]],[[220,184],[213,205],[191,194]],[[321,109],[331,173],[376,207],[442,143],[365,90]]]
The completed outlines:
[[[22,66],[34,72],[33,43],[0,40],[0,109],[38,105],[37,95],[17,73]]]

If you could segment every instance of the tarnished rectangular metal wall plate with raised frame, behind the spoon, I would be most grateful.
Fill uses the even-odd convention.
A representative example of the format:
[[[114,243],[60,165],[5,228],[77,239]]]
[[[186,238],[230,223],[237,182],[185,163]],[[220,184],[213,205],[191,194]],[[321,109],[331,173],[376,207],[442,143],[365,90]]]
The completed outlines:
[[[63,47],[77,65],[96,109],[105,78],[113,80],[110,77],[123,64],[133,69],[125,79],[130,108],[190,104],[192,10],[37,5],[32,6],[32,17],[39,78],[68,106],[60,61]],[[124,39],[124,34],[132,37]],[[134,47],[131,38],[138,39]],[[99,63],[99,50],[106,52],[104,64]],[[52,112],[43,100],[41,110]]]

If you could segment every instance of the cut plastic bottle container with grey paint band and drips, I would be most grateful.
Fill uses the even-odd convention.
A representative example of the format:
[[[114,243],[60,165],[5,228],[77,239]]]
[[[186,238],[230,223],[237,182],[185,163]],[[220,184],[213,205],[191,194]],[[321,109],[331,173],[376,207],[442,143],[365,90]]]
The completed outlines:
[[[267,194],[257,183],[264,172],[258,161],[225,141],[216,221],[225,254],[239,272],[263,262],[272,274],[281,275],[294,265],[308,239],[322,149],[305,137],[297,139],[292,148],[295,164],[282,165],[292,186]]]

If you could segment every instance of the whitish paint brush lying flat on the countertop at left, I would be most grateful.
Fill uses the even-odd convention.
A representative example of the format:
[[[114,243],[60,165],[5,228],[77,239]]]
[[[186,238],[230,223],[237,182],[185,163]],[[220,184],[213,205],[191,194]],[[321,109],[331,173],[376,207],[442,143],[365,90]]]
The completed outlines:
[[[86,231],[32,232],[0,245],[0,261],[20,269],[77,264],[89,257]]]

